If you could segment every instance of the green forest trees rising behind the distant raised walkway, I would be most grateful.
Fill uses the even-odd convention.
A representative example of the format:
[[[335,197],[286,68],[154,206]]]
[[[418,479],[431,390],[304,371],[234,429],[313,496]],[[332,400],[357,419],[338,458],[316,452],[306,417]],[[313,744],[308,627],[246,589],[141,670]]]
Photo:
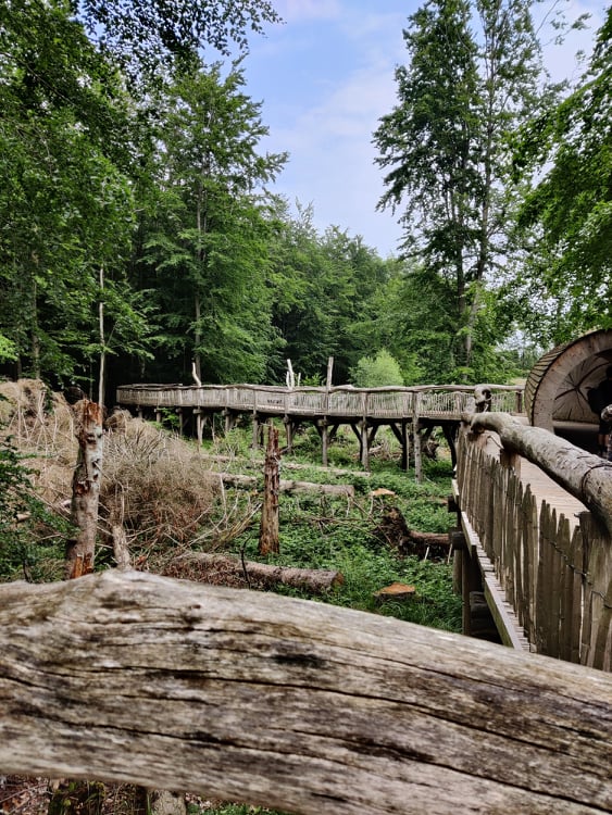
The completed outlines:
[[[397,105],[372,123],[372,208],[403,234],[383,259],[273,192],[288,156],[261,149],[245,92],[271,3],[8,0],[0,372],[110,403],[193,373],[284,383],[287,359],[302,384],[329,356],[334,384],[507,381],[608,327],[612,14],[570,87],[532,11],[430,0],[407,20]]]

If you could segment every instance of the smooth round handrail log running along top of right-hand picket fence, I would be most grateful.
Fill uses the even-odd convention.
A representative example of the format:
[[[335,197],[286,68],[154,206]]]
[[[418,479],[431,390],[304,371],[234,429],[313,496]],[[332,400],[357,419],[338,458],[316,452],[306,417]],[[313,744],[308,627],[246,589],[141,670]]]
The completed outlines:
[[[538,465],[553,481],[582,501],[612,535],[612,462],[575,447],[540,427],[524,425],[507,413],[470,417],[474,432],[492,430],[504,448]]]

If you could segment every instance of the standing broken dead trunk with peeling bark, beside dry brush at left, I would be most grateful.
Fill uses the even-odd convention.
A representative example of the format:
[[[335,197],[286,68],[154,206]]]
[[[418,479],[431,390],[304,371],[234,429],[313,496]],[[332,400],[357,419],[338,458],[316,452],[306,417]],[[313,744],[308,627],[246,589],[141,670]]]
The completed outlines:
[[[75,410],[78,418],[78,455],[72,479],[71,511],[78,531],[66,547],[66,579],[93,572],[102,476],[102,408],[83,399]]]

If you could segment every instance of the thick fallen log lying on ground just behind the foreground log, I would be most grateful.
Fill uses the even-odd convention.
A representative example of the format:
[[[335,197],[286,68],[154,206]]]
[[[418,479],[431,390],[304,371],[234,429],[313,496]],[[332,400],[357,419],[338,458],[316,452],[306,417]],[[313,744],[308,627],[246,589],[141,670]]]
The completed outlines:
[[[185,567],[188,569],[186,573]],[[165,568],[165,574],[212,584],[218,584],[220,578],[238,579],[243,580],[249,588],[273,588],[282,584],[315,593],[341,586],[345,580],[340,572],[330,569],[275,566],[255,561],[242,562],[238,557],[208,552],[186,552],[175,557]]]

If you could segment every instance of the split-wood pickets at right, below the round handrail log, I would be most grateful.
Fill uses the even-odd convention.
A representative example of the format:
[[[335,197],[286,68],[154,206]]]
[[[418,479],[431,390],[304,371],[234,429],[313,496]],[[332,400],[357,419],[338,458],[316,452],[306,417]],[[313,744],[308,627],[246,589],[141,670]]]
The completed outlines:
[[[596,466],[596,465],[594,465]],[[610,468],[612,478],[612,467]],[[510,466],[461,434],[461,511],[479,538],[533,650],[612,668],[612,538],[591,513],[538,504]]]

